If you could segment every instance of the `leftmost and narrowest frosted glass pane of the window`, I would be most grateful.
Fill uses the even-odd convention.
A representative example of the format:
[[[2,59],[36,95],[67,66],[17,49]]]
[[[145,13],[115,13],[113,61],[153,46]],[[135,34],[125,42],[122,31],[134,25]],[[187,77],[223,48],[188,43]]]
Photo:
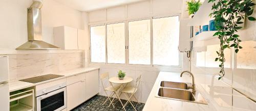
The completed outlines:
[[[91,62],[105,62],[105,26],[91,27]]]

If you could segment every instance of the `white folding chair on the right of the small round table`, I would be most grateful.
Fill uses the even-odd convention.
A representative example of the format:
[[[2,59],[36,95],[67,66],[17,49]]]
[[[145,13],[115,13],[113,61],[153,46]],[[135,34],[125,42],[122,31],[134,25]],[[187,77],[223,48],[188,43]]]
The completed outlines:
[[[141,75],[136,79],[136,85],[135,87],[133,86],[126,86],[123,88],[123,90],[121,91],[122,93],[124,93],[125,97],[127,98],[127,102],[124,104],[123,108],[125,108],[125,106],[128,103],[131,103],[131,105],[133,106],[133,108],[136,110],[136,107],[139,103],[138,99],[134,96],[134,94],[138,91],[138,87],[140,85],[140,80],[141,80]],[[131,96],[129,96],[129,94],[131,94]],[[132,97],[134,97],[134,99],[136,100],[137,104],[134,107],[134,105],[131,102]],[[136,110],[137,111],[137,110]]]

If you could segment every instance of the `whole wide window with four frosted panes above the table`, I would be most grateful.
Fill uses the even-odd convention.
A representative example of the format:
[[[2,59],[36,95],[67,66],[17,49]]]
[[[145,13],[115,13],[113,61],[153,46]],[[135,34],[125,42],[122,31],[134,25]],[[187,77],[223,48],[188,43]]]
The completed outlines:
[[[179,16],[90,27],[91,62],[180,65]]]

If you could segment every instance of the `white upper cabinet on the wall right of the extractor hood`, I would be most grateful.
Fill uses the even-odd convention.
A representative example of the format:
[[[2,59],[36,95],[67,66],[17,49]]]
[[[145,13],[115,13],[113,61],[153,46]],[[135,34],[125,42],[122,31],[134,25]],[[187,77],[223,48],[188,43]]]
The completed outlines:
[[[53,28],[53,32],[55,46],[63,50],[85,49],[86,34],[83,30],[60,26]]]

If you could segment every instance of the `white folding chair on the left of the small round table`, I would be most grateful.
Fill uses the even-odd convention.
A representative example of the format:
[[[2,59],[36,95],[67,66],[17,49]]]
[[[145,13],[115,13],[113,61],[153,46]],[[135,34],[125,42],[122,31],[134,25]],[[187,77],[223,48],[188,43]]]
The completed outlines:
[[[111,100],[110,98],[112,98],[112,96],[115,94],[115,91],[120,88],[120,85],[113,85],[113,86],[110,85],[108,87],[104,87],[104,84],[103,84],[104,79],[107,79],[109,81],[109,73],[103,73],[103,74],[100,75],[100,80],[101,80],[101,83],[102,83],[102,87],[104,89],[104,92],[105,92],[106,96],[108,96],[108,98],[104,101],[104,103],[102,105],[104,105],[106,103],[106,101],[110,100],[110,105],[112,104],[112,106],[115,108],[114,104],[112,103],[113,100]],[[108,95],[108,93],[106,93],[106,91],[112,92],[111,95]]]

